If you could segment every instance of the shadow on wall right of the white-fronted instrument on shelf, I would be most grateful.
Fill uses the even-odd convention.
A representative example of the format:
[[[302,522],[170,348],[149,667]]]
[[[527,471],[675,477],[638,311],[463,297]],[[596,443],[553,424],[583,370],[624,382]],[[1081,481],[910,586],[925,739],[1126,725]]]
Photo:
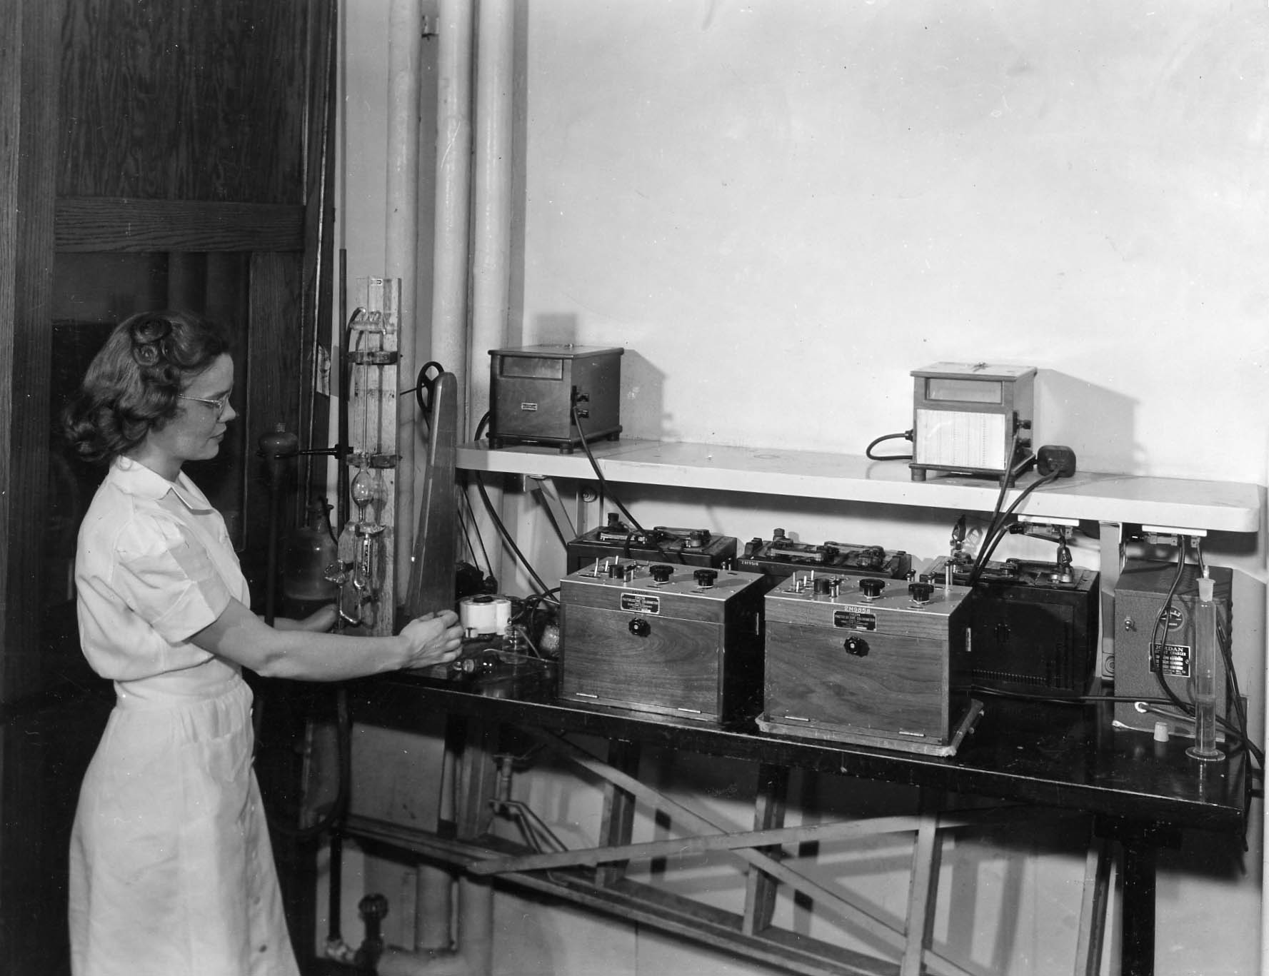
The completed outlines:
[[[1136,475],[1143,463],[1136,406],[1113,390],[1042,369],[1036,377],[1036,448],[1065,444],[1080,471]]]

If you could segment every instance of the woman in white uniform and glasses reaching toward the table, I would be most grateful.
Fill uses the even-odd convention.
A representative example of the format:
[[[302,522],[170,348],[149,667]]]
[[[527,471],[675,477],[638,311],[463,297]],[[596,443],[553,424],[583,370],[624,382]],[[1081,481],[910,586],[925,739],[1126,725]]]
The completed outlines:
[[[452,661],[450,612],[396,637],[325,633],[335,612],[266,626],[250,610],[225,522],[181,471],[237,415],[222,333],[180,312],[121,324],[66,409],[109,462],[79,533],[80,641],[114,682],[71,838],[76,976],[297,973],[251,769],[241,669],[340,680]]]

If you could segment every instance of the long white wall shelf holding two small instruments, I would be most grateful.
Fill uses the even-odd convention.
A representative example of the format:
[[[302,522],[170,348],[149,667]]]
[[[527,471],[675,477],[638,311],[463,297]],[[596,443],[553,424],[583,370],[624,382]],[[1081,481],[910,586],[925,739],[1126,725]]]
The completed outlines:
[[[990,478],[931,473],[928,481],[912,481],[902,461],[829,452],[622,439],[594,443],[591,453],[604,477],[613,482],[970,511],[991,511],[1000,494]],[[553,447],[491,449],[486,442],[477,442],[459,445],[457,465],[467,471],[595,480],[581,449],[571,454]],[[1034,480],[1034,473],[1019,478],[1006,504]],[[1237,481],[1077,472],[1033,491],[1016,514],[1258,532],[1261,496],[1259,485]]]

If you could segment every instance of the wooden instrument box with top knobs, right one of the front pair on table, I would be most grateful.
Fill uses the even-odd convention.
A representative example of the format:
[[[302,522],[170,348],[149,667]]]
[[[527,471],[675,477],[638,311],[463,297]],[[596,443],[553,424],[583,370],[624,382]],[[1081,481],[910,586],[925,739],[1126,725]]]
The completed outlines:
[[[970,697],[970,590],[797,572],[765,595],[766,732],[952,755]]]

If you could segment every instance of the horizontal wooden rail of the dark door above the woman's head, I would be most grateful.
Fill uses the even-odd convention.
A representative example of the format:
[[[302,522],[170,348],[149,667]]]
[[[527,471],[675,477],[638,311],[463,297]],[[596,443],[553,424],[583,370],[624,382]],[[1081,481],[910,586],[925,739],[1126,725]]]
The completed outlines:
[[[62,197],[61,251],[302,251],[305,208],[119,197]]]

